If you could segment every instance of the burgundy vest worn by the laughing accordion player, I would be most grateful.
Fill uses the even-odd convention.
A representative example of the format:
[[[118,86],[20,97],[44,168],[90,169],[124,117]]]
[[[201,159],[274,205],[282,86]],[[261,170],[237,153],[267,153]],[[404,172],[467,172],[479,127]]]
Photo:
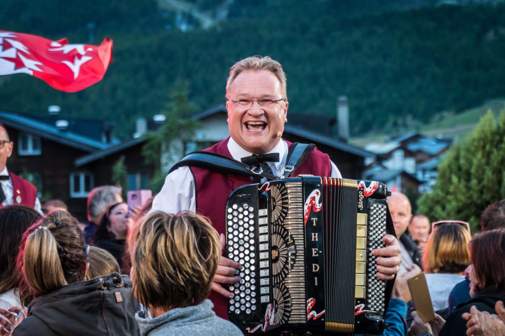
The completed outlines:
[[[232,158],[228,150],[228,140],[204,150]],[[290,142],[287,142],[291,146]],[[236,188],[252,183],[252,179],[246,176],[221,174],[207,169],[190,167],[195,181],[196,212],[206,216],[212,222],[219,234],[225,233],[225,207],[228,196]],[[315,176],[331,176],[331,163],[328,154],[314,149],[307,159],[291,175],[295,177],[302,174]],[[215,291],[209,297],[214,303],[214,311],[219,317],[228,319],[226,298]]]

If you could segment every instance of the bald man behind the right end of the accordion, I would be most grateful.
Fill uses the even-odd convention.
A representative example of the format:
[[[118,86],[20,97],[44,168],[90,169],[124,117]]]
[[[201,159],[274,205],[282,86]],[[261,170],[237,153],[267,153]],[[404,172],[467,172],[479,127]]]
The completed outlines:
[[[412,206],[409,198],[401,192],[393,192],[387,197],[389,212],[393,219],[394,232],[401,249],[401,264],[398,275],[407,272],[407,267],[416,264],[423,269],[421,251],[416,243],[405,234],[412,218]]]

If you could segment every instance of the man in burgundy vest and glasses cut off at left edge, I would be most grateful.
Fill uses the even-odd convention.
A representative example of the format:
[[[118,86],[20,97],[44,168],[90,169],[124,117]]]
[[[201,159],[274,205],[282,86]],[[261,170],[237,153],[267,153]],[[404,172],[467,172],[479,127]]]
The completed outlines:
[[[13,148],[7,129],[0,124],[0,207],[20,204],[42,213],[37,188],[7,170],[7,159],[11,157]]]

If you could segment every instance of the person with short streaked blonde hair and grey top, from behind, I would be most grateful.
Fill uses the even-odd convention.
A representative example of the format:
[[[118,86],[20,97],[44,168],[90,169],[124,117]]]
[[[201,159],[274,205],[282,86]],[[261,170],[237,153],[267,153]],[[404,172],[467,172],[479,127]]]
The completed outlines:
[[[142,335],[242,334],[206,300],[221,256],[208,219],[191,212],[148,214],[130,230],[128,246],[134,295],[152,317],[137,312]]]

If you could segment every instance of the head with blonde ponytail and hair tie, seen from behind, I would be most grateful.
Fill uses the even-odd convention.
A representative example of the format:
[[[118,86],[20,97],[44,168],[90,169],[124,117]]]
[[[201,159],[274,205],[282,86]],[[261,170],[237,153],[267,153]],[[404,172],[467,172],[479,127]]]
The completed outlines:
[[[87,245],[77,220],[55,211],[23,235],[18,271],[35,296],[51,293],[85,279]]]

